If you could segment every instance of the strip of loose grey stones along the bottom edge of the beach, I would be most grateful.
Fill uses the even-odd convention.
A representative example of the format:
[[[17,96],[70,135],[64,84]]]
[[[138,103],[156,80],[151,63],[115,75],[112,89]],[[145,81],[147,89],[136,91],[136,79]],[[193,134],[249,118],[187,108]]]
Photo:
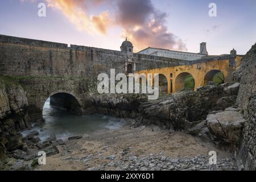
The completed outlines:
[[[137,156],[123,156],[113,159],[109,163],[88,168],[88,171],[101,170],[116,171],[232,171],[236,170],[233,159],[217,160],[217,164],[209,164],[209,156],[197,155],[194,158],[171,158],[163,154],[150,154],[138,158]]]

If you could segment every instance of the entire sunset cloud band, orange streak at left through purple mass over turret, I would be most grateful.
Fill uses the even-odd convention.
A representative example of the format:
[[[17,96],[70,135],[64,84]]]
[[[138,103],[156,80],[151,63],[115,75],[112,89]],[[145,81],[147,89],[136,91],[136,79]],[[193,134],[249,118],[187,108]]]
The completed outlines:
[[[36,0],[20,0],[35,2]],[[64,16],[80,31],[91,35],[95,32],[106,35],[108,28],[122,28],[121,37],[129,38],[134,50],[148,46],[186,51],[186,45],[166,26],[167,14],[156,10],[151,0],[45,0],[48,7],[60,10]],[[99,15],[90,15],[90,9],[110,5],[116,7],[114,14],[103,11]]]

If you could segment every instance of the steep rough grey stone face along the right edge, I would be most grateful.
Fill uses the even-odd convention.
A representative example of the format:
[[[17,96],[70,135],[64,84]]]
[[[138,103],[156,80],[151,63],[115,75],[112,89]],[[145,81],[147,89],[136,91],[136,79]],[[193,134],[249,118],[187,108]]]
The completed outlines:
[[[256,169],[256,44],[242,60],[241,68],[235,75],[241,76],[237,104],[246,118],[243,144],[238,152],[238,162],[245,169]],[[239,76],[240,75],[240,76]]]

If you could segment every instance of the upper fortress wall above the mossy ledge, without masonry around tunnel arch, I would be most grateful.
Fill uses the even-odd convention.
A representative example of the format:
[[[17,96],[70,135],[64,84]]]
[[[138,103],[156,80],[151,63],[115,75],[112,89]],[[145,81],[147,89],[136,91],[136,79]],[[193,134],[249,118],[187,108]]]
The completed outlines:
[[[125,62],[137,69],[188,64],[188,61],[134,53],[127,57],[120,51],[59,44],[0,35],[0,74],[9,76],[97,76],[125,72]]]

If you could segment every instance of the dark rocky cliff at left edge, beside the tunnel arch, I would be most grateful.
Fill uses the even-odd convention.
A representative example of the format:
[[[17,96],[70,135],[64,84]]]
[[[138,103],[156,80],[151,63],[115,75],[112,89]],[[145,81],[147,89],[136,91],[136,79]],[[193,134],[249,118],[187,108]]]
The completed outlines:
[[[24,146],[19,131],[30,128],[27,106],[27,93],[22,86],[0,78],[0,159]]]

